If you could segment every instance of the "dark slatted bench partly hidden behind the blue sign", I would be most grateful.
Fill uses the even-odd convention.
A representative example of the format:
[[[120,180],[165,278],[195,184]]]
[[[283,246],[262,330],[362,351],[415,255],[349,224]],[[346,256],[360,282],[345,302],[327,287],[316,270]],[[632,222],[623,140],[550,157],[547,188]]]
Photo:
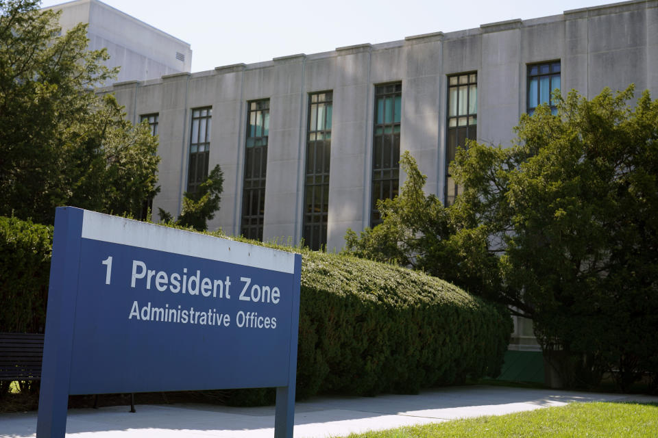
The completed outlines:
[[[42,359],[42,333],[0,333],[0,381],[40,380]],[[130,394],[130,412],[135,412],[134,394]]]

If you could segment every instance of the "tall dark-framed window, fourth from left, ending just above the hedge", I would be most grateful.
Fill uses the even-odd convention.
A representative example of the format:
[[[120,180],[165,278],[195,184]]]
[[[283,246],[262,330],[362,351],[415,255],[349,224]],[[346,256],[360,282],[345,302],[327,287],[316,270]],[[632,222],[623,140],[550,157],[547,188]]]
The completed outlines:
[[[310,94],[304,182],[304,243],[313,250],[327,244],[332,92]]]

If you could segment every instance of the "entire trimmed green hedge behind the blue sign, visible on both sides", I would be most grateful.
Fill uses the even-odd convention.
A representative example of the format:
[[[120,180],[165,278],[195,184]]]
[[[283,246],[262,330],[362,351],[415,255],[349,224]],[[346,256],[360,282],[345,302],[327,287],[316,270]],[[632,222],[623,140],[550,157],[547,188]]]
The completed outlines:
[[[1,330],[42,331],[52,228],[14,218],[0,224]],[[500,373],[512,330],[503,307],[422,272],[265,246],[302,253],[298,397],[414,393]],[[238,390],[229,402],[273,396],[271,389]]]

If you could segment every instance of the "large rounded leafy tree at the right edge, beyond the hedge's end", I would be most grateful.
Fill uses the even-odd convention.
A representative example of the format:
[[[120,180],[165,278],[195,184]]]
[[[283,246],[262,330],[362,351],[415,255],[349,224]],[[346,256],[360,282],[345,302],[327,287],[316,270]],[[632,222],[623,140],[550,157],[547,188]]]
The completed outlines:
[[[502,189],[489,214],[499,214],[491,222],[506,249],[506,290],[570,385],[596,385],[613,371],[625,390],[643,371],[658,372],[658,102],[644,92],[631,108],[632,98],[632,86],[592,101],[571,92],[559,116],[524,116],[504,151],[514,166],[498,161],[485,182]],[[472,188],[465,203],[489,190],[460,169],[479,151],[457,159]]]

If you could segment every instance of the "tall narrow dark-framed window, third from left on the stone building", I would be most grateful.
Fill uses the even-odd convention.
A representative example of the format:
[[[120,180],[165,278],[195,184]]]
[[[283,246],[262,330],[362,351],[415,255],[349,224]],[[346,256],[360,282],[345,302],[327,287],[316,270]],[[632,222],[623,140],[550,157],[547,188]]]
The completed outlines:
[[[241,233],[249,239],[263,240],[267,136],[269,135],[269,99],[249,102],[247,103],[247,108],[247,140]]]

